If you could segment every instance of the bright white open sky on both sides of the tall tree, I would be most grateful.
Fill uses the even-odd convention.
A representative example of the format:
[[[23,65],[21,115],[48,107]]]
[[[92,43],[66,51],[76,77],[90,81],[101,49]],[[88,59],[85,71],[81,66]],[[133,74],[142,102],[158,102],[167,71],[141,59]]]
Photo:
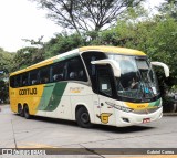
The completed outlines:
[[[146,7],[158,6],[164,0],[147,0]],[[29,0],[0,0],[0,48],[9,52],[28,46],[22,39],[38,40],[44,35],[49,41],[55,33],[62,32],[45,17],[46,11],[39,9]]]

